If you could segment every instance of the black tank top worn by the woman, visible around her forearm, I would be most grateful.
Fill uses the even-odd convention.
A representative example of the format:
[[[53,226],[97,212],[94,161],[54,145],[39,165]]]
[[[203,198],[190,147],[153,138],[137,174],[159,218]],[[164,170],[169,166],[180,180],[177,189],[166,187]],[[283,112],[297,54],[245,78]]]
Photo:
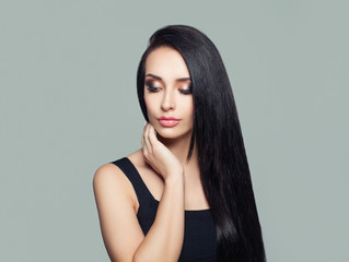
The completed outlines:
[[[137,218],[146,236],[155,219],[159,201],[127,157],[112,164],[118,166],[133,186],[139,202]],[[217,231],[210,210],[185,211],[184,241],[178,261],[217,261],[216,247]]]

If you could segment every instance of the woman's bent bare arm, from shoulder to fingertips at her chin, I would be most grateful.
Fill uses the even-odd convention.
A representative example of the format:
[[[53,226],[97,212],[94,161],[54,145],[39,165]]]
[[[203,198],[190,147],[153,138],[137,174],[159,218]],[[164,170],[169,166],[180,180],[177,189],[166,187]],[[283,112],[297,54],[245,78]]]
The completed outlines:
[[[140,228],[129,193],[132,186],[123,171],[106,164],[94,176],[101,230],[112,261],[166,262],[177,261],[181,254],[184,238],[183,168],[172,153],[155,141],[153,132],[144,133],[149,138],[142,141],[144,157],[165,181],[155,221],[147,236]]]

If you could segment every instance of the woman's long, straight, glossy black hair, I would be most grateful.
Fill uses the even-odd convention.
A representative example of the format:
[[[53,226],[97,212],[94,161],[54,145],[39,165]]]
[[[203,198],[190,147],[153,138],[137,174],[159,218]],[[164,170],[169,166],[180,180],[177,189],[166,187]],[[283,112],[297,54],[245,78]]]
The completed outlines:
[[[198,29],[171,25],[149,40],[137,72],[137,92],[147,121],[144,71],[148,55],[161,46],[183,56],[191,79],[194,143],[201,182],[217,228],[218,261],[266,261],[243,135],[234,96],[221,56]]]

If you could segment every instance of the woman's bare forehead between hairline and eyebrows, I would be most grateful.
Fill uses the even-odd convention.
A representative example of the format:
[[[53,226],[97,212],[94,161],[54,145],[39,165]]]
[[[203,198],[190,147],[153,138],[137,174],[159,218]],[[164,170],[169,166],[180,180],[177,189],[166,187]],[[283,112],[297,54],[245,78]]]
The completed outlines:
[[[159,47],[148,55],[146,60],[147,73],[164,79],[190,78],[182,55],[171,47]]]

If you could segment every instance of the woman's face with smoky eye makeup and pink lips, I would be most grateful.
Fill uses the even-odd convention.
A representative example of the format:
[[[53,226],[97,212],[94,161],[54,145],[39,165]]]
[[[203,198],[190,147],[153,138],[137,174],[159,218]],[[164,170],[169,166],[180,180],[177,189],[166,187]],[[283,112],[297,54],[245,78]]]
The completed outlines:
[[[146,60],[144,102],[150,123],[165,139],[190,138],[194,102],[188,68],[181,53],[159,47]]]

